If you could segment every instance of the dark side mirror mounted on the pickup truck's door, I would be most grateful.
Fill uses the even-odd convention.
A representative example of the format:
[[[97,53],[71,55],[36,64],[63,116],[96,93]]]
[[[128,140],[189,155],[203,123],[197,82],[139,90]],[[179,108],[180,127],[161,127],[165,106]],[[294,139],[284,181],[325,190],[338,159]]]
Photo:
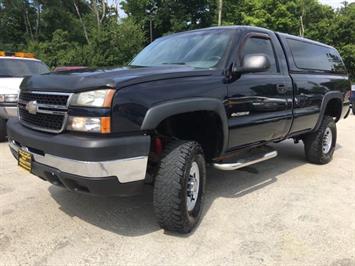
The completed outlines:
[[[234,72],[239,74],[264,72],[270,67],[270,60],[265,54],[247,54],[242,59],[241,67]]]

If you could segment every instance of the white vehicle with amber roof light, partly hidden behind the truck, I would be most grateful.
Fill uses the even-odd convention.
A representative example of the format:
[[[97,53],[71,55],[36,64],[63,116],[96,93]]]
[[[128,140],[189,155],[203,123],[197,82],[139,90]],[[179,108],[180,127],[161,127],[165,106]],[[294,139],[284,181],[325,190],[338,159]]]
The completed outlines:
[[[49,72],[30,53],[0,51],[0,142],[6,137],[6,121],[17,115],[20,84],[25,76]]]

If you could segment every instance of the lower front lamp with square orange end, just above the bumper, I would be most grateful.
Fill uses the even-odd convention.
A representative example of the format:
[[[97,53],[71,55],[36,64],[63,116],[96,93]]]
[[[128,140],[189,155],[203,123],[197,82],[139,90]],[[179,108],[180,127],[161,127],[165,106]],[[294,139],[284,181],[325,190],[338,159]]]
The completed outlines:
[[[111,118],[69,116],[67,130],[93,133],[110,133]]]

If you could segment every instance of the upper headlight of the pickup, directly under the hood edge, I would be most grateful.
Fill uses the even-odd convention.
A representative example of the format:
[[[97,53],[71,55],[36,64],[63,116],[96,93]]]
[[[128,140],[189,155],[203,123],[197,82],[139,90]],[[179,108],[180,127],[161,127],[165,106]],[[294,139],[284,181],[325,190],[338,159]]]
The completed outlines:
[[[115,90],[105,89],[74,94],[70,105],[83,107],[111,107]]]

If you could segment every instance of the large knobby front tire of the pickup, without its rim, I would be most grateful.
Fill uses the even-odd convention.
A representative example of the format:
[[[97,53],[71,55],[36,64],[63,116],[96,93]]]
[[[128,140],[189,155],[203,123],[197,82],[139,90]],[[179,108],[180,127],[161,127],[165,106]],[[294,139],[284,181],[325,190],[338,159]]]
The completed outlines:
[[[194,208],[188,211],[187,182],[193,162],[199,168],[199,192]],[[194,141],[173,141],[167,145],[154,184],[154,211],[159,225],[187,234],[201,217],[206,182],[206,163],[201,146]]]

